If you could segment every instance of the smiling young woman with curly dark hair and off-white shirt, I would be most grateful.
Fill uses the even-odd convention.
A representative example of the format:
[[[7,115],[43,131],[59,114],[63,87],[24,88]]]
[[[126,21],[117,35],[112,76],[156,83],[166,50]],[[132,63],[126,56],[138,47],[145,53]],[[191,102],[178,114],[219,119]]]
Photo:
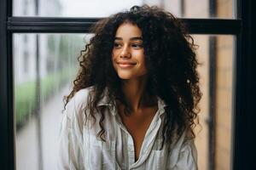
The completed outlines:
[[[197,169],[195,44],[157,7],[99,21],[66,98],[60,169]]]

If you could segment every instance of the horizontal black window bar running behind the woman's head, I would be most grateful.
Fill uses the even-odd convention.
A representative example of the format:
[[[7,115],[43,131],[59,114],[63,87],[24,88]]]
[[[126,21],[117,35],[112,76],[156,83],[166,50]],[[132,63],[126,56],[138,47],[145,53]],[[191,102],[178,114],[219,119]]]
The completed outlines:
[[[12,32],[90,32],[100,18],[46,18],[10,17],[8,29]],[[241,20],[181,19],[191,34],[239,34]]]

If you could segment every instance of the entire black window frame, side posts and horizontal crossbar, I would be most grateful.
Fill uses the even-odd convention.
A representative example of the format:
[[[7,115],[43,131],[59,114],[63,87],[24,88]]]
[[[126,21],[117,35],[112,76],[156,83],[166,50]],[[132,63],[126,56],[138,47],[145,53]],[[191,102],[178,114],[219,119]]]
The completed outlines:
[[[236,1],[237,19],[182,19],[191,34],[228,34],[236,36],[234,76],[233,155],[231,169],[253,169],[253,96],[255,67],[253,67],[252,0]],[[13,93],[13,33],[17,32],[89,32],[99,18],[14,17],[12,1],[0,2],[0,166],[15,169],[15,126]],[[254,62],[255,63],[255,62]],[[254,94],[254,95],[253,95]]]

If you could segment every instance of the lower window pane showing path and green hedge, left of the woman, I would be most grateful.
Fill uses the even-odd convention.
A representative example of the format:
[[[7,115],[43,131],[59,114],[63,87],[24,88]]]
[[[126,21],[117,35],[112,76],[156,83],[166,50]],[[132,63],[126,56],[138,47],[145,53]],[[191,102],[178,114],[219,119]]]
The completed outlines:
[[[89,35],[15,34],[17,169],[56,169],[62,98]]]

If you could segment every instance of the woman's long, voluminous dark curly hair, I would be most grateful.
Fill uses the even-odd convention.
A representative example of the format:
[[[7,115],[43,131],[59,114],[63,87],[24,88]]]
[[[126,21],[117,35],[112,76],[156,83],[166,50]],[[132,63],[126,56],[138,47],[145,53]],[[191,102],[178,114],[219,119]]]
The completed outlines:
[[[94,120],[95,111],[100,112],[99,125],[102,129],[97,138],[102,140],[105,133],[105,116],[102,109],[96,105],[102,99],[104,89],[108,88],[108,98],[113,107],[117,106],[114,101],[119,101],[129,112],[129,104],[125,101],[121,88],[121,79],[111,60],[115,33],[124,23],[136,25],[143,32],[148,73],[146,93],[160,97],[166,103],[163,141],[172,143],[174,134],[181,136],[184,130],[189,130],[195,138],[193,128],[200,111],[198,103],[201,99],[199,75],[196,71],[199,65],[195,55],[196,45],[181,20],[155,6],[135,6],[129,11],[102,19],[92,27],[91,31],[95,35],[81,51],[79,73],[73,81],[72,92],[65,98],[65,107],[80,89],[93,87],[86,108],[90,110],[90,116]]]

